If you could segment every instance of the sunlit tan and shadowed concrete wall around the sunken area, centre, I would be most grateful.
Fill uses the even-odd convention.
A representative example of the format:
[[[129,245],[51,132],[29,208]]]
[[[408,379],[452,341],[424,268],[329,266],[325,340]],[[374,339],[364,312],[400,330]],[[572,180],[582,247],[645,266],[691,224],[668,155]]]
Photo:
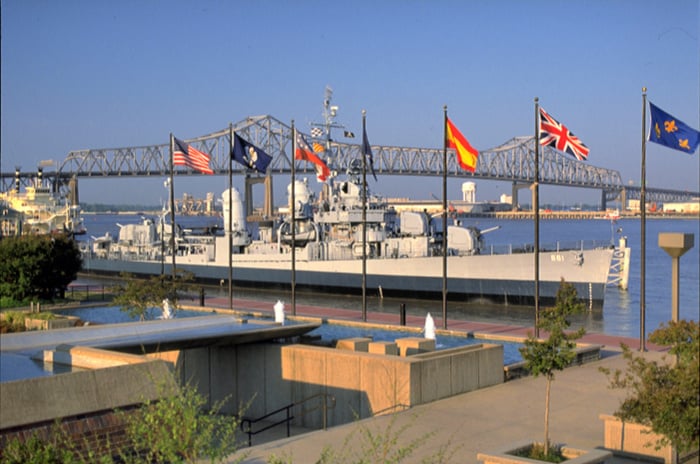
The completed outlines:
[[[275,343],[158,356],[174,362],[180,380],[196,385],[210,402],[223,401],[224,412],[246,405],[244,415],[258,418],[309,400],[293,410],[295,425],[309,428],[324,423],[319,395],[335,398],[327,415],[333,426],[503,382],[503,347],[491,344],[408,357]]]

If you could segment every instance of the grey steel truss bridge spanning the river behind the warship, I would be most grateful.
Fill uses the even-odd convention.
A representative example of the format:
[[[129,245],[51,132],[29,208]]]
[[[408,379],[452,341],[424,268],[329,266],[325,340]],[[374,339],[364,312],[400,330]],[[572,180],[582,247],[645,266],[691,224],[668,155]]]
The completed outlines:
[[[246,180],[262,182],[275,174],[291,174],[293,160],[291,127],[272,116],[248,117],[232,125],[232,129],[273,157],[266,175],[250,171],[233,163],[233,173],[243,174]],[[211,167],[217,175],[228,175],[230,129],[187,140],[195,148],[211,155]],[[305,134],[306,135],[306,134]],[[311,136],[306,135],[307,141]],[[326,152],[323,158],[332,171],[344,172],[355,159],[361,159],[361,146],[323,140]],[[447,153],[447,175],[451,178],[486,179],[508,181],[513,185],[513,204],[517,202],[518,189],[528,188],[535,179],[534,137],[514,137],[497,147],[481,151],[476,172],[462,170],[453,150]],[[377,175],[442,176],[442,148],[410,148],[372,146],[374,170]],[[295,162],[295,171],[314,175],[313,165],[305,161]],[[601,207],[608,201],[639,199],[641,188],[625,186],[619,171],[592,166],[551,147],[540,147],[539,177],[541,185],[581,187],[601,191]],[[54,181],[56,189],[67,186],[71,178],[142,177],[170,174],[169,143],[140,147],[78,150],[68,153],[57,163],[55,171],[44,170],[43,176]],[[184,166],[175,167],[175,175],[201,175]],[[2,191],[29,184],[36,172],[2,173]],[[246,184],[247,185],[247,184]],[[246,189],[246,194],[249,192]],[[648,202],[681,202],[700,197],[700,192],[647,188]]]

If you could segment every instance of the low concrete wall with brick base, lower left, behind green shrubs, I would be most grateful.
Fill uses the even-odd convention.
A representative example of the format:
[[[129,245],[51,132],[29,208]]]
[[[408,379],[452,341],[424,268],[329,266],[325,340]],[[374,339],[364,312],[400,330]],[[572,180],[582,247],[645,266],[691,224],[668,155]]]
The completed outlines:
[[[99,453],[106,440],[119,447],[126,437],[125,414],[177,389],[169,364],[143,356],[61,345],[39,358],[92,370],[3,383],[0,455],[12,440],[35,434],[48,440],[56,427],[83,451]]]

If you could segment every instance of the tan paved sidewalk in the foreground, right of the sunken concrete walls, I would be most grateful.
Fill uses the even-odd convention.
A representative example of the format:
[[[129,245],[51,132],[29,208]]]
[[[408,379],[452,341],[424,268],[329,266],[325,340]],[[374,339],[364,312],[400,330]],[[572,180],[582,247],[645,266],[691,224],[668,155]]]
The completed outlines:
[[[659,358],[659,352],[646,353]],[[552,385],[550,438],[553,442],[577,448],[603,445],[603,422],[599,414],[612,414],[624,392],[608,389],[607,377],[599,371],[624,368],[620,354],[557,373]],[[422,462],[447,447],[451,460],[477,463],[476,455],[522,439],[542,440],[545,379],[525,377],[482,390],[414,407],[390,416],[379,416],[326,431],[315,431],[246,448],[244,462],[262,464],[271,456],[294,463],[316,462],[324,447],[335,451],[356,450],[361,446],[360,430],[376,434],[396,434],[403,430],[398,446],[434,434],[412,455]],[[354,435],[353,435],[354,434]],[[352,437],[346,445],[348,437]],[[285,461],[286,462],[286,461]],[[616,462],[631,462],[617,459]]]

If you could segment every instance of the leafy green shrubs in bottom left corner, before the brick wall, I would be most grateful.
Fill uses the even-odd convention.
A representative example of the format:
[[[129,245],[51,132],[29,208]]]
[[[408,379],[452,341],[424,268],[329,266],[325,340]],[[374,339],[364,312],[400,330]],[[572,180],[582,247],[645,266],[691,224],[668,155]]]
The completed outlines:
[[[126,429],[126,439],[119,447],[109,436],[76,441],[57,422],[48,440],[34,434],[26,441],[10,441],[0,450],[0,463],[223,462],[238,449],[239,421],[219,414],[223,403],[209,410],[205,404],[206,399],[196,388],[185,386],[161,400],[146,402],[137,412],[118,411]],[[245,454],[227,462],[244,458]]]

